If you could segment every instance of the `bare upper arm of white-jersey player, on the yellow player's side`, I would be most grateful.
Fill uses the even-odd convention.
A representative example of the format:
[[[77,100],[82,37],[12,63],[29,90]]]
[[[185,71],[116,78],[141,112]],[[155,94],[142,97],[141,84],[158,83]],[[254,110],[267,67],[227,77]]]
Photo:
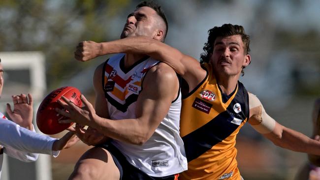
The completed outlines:
[[[178,78],[171,68],[156,71],[146,75],[136,106],[136,117],[149,133],[153,133],[166,116],[179,89]]]

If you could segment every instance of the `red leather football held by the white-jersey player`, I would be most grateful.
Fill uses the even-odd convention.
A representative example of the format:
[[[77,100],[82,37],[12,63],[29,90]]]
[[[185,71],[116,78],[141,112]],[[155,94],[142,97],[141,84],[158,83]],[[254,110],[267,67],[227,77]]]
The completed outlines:
[[[50,92],[41,102],[36,113],[36,124],[41,132],[44,134],[57,134],[70,127],[73,123],[61,124],[59,119],[64,116],[55,111],[55,108],[62,108],[57,102],[61,96],[70,99],[75,105],[81,107],[82,101],[80,99],[80,90],[74,87],[62,87]]]

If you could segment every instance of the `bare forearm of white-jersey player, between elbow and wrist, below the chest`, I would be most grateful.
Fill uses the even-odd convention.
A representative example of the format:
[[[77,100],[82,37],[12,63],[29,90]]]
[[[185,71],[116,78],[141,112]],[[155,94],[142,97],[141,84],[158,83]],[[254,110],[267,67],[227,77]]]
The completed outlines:
[[[152,135],[137,119],[108,120],[96,117],[94,121],[92,127],[105,136],[134,145],[142,145]]]

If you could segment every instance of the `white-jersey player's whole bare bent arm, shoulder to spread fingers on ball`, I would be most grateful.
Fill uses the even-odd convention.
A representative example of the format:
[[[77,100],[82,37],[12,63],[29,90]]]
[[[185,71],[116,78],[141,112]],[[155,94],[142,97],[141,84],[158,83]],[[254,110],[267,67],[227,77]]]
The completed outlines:
[[[157,67],[151,68],[145,76],[143,90],[136,102],[135,119],[109,120],[98,117],[93,106],[83,95],[81,99],[87,110],[80,109],[64,98],[67,104],[58,102],[67,112],[60,109],[57,111],[70,118],[70,120],[60,120],[60,122],[74,121],[91,126],[118,141],[141,145],[152,136],[165,117],[171,101],[178,94],[178,89],[178,78],[174,71],[169,66],[160,63]]]

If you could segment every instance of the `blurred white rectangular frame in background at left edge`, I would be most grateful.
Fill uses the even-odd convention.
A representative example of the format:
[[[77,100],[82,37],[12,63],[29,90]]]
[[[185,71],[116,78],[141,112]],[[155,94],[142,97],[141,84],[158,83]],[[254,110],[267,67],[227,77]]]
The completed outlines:
[[[0,99],[0,111],[5,114],[6,103],[12,105],[11,95],[31,93],[35,124],[36,110],[46,95],[45,57],[41,52],[0,52],[4,69],[4,87]],[[36,129],[37,130],[37,129]],[[37,132],[39,132],[37,130]],[[1,180],[34,179],[52,180],[51,156],[40,154],[34,163],[24,163],[5,156]],[[24,169],[28,169],[26,175]]]

